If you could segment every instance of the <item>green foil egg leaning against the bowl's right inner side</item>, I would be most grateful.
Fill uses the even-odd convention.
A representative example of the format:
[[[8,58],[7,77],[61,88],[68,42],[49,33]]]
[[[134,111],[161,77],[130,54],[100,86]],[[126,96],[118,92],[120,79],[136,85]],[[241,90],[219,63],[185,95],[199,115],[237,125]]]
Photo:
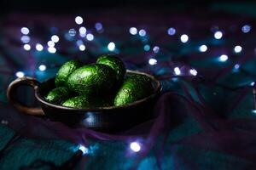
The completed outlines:
[[[125,78],[125,82],[119,88],[114,99],[114,105],[126,105],[143,99],[154,92],[152,82],[144,75],[131,75]]]

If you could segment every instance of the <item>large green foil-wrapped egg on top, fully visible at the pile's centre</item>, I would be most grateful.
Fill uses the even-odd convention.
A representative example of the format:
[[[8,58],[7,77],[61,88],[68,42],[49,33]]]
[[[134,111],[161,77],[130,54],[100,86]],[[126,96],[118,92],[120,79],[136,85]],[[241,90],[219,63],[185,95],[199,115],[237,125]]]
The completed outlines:
[[[79,94],[111,94],[115,72],[108,65],[84,65],[68,77],[67,87]]]

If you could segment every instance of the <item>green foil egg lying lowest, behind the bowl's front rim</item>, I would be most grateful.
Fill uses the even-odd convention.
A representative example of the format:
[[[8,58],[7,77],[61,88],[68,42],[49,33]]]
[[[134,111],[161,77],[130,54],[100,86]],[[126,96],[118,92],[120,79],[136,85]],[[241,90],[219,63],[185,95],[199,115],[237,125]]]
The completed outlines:
[[[67,99],[63,106],[73,107],[77,109],[96,108],[96,107],[107,107],[112,105],[111,101],[107,98],[92,97],[92,96],[76,96],[71,99]]]

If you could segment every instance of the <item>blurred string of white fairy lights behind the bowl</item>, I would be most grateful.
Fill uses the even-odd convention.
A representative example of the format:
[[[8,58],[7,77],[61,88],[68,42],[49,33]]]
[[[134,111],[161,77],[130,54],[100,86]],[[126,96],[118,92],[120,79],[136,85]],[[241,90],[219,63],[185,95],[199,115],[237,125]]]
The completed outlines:
[[[84,44],[83,38],[86,41],[91,42],[95,39],[95,35],[92,34],[90,31],[88,31],[84,26],[81,26],[84,23],[83,17],[76,16],[74,21],[77,25],[80,26],[79,29],[78,29],[78,32],[77,32],[76,29],[71,28],[65,33],[64,37],[67,41],[72,41],[74,39],[74,37],[76,37],[76,35],[79,34],[79,39],[76,40],[76,45],[78,46],[80,51],[84,51],[86,49],[86,46]],[[104,31],[102,23],[100,23],[100,22],[97,22],[95,24],[95,29],[99,33],[102,33]],[[248,33],[249,31],[251,31],[251,29],[252,29],[252,26],[249,26],[249,25],[244,25],[244,26],[241,27],[241,31],[243,33]],[[22,36],[20,37],[20,41],[23,43],[23,48],[26,51],[31,51],[32,50],[32,44],[29,43],[29,42],[31,42],[31,37],[29,36],[30,29],[27,28],[27,27],[22,27],[20,29],[20,32],[22,34]],[[177,34],[177,30],[174,27],[168,28],[166,32],[169,36],[175,36]],[[139,30],[139,29],[137,29],[137,27],[134,27],[134,26],[132,26],[129,29],[129,33],[131,34],[131,36],[137,36],[138,35],[139,37],[146,37],[147,34],[148,34],[148,32],[146,30],[144,30],[144,29]],[[213,37],[216,40],[222,39],[224,37],[224,33],[223,33],[223,31],[216,30],[216,31],[213,32]],[[182,43],[189,43],[190,37],[189,37],[188,34],[182,34],[182,35],[180,35],[179,40]],[[37,42],[34,45],[34,48],[38,52],[43,51],[43,50],[47,50],[50,54],[55,54],[55,53],[57,53],[57,48],[55,48],[55,45],[58,42],[60,42],[60,37],[58,35],[54,34],[50,37],[50,40],[47,42],[47,45],[44,45],[42,43]],[[109,52],[114,52],[116,50],[116,44],[114,42],[108,42],[107,48],[108,48]],[[145,52],[148,52],[151,49],[154,54],[158,54],[160,52],[160,47],[159,46],[154,46],[154,47],[151,48],[149,44],[145,44],[143,46],[143,49],[144,49]],[[205,53],[205,52],[207,52],[207,50],[208,50],[207,44],[201,44],[198,47],[198,51],[200,53]],[[234,47],[233,50],[236,54],[239,54],[242,51],[242,47],[241,47],[241,45],[237,44]],[[218,61],[220,61],[220,62],[225,62],[228,59],[229,59],[229,56],[227,54],[220,54],[218,56]],[[153,58],[153,57],[148,59],[148,65],[157,65],[157,62],[158,62],[158,60]],[[239,69],[239,67],[240,67],[239,64],[236,64],[234,66],[234,68],[236,70]],[[39,65],[38,66],[39,71],[45,71],[46,69],[47,69],[47,65]],[[179,67],[174,67],[173,74],[175,74],[176,76],[180,76],[180,75],[183,75],[183,72],[180,70]],[[189,74],[191,76],[196,76],[197,71],[192,68],[192,69],[189,70]],[[25,73],[23,71],[17,71],[15,73],[15,76],[16,77],[24,77]]]

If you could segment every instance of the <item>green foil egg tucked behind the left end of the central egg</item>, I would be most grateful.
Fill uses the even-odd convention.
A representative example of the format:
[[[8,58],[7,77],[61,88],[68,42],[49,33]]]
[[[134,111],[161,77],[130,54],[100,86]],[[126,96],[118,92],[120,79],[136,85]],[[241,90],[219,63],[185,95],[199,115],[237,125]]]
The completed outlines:
[[[82,64],[77,60],[67,61],[61,66],[55,77],[55,86],[66,86],[67,78],[73,71],[77,70]]]

